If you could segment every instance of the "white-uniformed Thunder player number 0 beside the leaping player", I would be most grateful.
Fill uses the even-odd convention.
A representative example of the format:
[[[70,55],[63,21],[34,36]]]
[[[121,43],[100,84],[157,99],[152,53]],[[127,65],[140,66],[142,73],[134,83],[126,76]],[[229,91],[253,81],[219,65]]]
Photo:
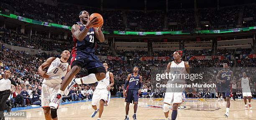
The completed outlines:
[[[44,117],[46,120],[58,120],[57,108],[50,109],[49,104],[54,102],[62,77],[71,69],[67,60],[70,52],[65,50],[61,53],[61,58],[50,57],[38,68],[38,72],[44,77],[42,84],[42,108],[44,109]],[[44,69],[49,66],[47,72]]]

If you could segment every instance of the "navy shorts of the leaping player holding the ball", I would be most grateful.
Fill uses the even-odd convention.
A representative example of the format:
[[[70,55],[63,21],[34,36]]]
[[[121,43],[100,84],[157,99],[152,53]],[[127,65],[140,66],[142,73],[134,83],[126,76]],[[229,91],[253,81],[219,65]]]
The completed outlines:
[[[82,51],[74,51],[72,53],[71,68],[73,66],[80,66],[88,70],[88,74],[92,73],[106,73],[103,64],[98,57],[92,53],[84,53]]]

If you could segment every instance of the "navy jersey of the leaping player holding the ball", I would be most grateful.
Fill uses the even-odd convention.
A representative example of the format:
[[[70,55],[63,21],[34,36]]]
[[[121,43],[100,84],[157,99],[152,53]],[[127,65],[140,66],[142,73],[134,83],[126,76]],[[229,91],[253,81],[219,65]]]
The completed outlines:
[[[82,31],[85,28],[85,25],[83,25],[80,22],[75,23],[80,26],[80,31]],[[95,52],[95,46],[97,38],[94,33],[94,28],[89,28],[89,31],[87,32],[87,36],[84,38],[83,41],[77,40],[73,36],[74,40],[74,47],[72,48],[72,54],[74,54],[76,51],[81,51],[82,53],[94,53]]]

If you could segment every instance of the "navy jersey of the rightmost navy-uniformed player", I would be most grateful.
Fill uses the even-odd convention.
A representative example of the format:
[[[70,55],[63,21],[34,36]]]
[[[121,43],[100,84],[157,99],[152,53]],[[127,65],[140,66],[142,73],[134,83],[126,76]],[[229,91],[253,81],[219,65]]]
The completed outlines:
[[[222,70],[220,73],[220,80],[225,80],[225,83],[221,83],[221,91],[229,91],[230,90],[230,79],[231,79],[231,73],[232,71],[224,71]]]

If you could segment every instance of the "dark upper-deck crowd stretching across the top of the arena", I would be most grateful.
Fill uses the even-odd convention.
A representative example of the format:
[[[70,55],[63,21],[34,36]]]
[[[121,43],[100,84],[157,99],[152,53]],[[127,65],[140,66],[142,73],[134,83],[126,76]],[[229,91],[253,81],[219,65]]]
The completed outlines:
[[[124,16],[127,16],[127,26],[129,31],[163,31],[164,19],[166,13],[164,10],[154,11],[128,11],[128,10],[100,10],[86,6],[77,6],[67,3],[58,3],[57,7],[38,3],[35,0],[2,0],[1,9],[8,9],[10,13],[20,15],[33,20],[46,21],[61,25],[72,26],[74,22],[79,21],[81,10],[87,10],[89,13],[100,13],[104,18],[103,30],[125,31]],[[6,4],[12,8],[6,8]],[[217,9],[199,9],[198,16],[200,21],[210,21],[210,28],[231,28],[236,27],[238,23],[239,7],[229,7]],[[125,14],[125,15],[124,15]],[[255,20],[255,5],[245,6],[243,18],[253,17]],[[195,30],[196,26],[195,11],[193,9],[169,10],[167,13],[168,23],[177,23],[170,25],[170,31]],[[135,24],[134,24],[135,23]],[[250,23],[250,21],[246,21]],[[254,22],[255,23],[255,22]],[[255,25],[252,21],[250,25]]]

